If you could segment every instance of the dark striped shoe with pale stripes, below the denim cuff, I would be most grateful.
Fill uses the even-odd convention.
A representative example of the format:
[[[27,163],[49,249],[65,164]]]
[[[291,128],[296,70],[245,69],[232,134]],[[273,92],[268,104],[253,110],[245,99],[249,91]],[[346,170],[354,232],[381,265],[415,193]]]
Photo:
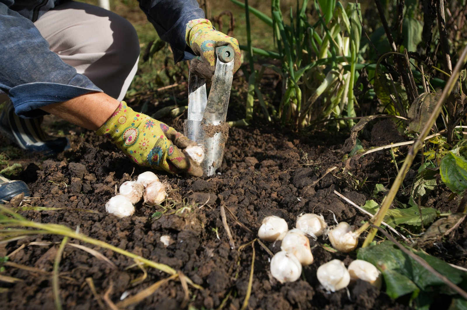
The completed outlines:
[[[42,119],[43,117],[28,119],[19,117],[14,113],[11,101],[8,101],[0,116],[0,134],[22,149],[44,155],[57,154],[70,148],[67,138],[51,137],[42,130]]]

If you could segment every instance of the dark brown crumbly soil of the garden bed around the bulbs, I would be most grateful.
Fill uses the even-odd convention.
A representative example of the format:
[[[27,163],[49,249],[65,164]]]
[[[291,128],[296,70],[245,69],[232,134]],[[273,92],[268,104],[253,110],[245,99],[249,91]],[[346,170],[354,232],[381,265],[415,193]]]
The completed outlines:
[[[390,134],[376,133],[384,124],[375,126],[368,141],[383,143],[394,139],[395,128],[391,128]],[[182,129],[180,120],[170,122],[170,125]],[[196,309],[218,309],[223,300],[223,309],[241,308],[247,294],[253,251],[251,246],[241,251],[238,248],[256,237],[263,217],[281,216],[289,227],[293,227],[296,217],[302,212],[322,214],[328,225],[333,225],[334,214],[338,221],[347,221],[357,227],[366,217],[340,200],[333,190],[362,205],[371,198],[375,183],[388,185],[396,175],[387,152],[376,152],[351,161],[351,171],[340,168],[342,154],[338,150],[347,138],[346,134],[336,136],[315,132],[299,136],[287,133],[279,126],[257,124],[230,130],[218,175],[191,178],[160,173],[160,178],[170,185],[169,197],[176,202],[175,206],[170,207],[166,202],[167,208],[164,209],[147,207],[139,202],[133,216],[118,219],[106,213],[105,202],[114,195],[115,186],[134,180],[145,170],[132,164],[112,144],[91,132],[83,131],[82,135],[78,132],[68,137],[73,145],[71,150],[40,162],[40,165],[31,161],[18,178],[28,183],[36,197],[31,202],[34,206],[66,207],[70,210],[23,211],[21,215],[36,222],[79,229],[87,236],[181,270],[194,283],[204,287],[204,290],[190,288],[188,302]],[[363,139],[362,143],[370,144],[368,141]],[[338,168],[318,181],[333,166]],[[410,184],[410,180],[407,182]],[[446,190],[436,193],[442,197],[440,199],[432,195],[431,205],[441,212],[455,210],[458,200],[447,202],[448,194],[445,193]],[[188,199],[185,200],[188,208],[183,208],[184,198]],[[227,223],[235,249],[229,245],[220,206],[230,211],[226,212]],[[160,241],[163,235],[170,235],[175,242],[165,247]],[[50,272],[58,245],[31,245],[31,242],[59,243],[61,239],[52,235],[28,236],[0,244],[0,256],[24,244],[25,247],[9,260]],[[85,282],[88,277],[92,278],[100,296],[112,285],[110,299],[117,303],[125,291],[130,296],[134,295],[168,276],[148,267],[144,281],[133,285],[132,281],[141,277],[143,272],[138,267],[127,269],[134,264],[132,259],[77,240],[70,240],[70,243],[98,250],[117,266],[117,270],[81,249],[65,247],[60,264],[60,274],[64,276],[60,279],[64,309],[99,309]],[[346,264],[355,258],[354,253],[341,255],[329,252],[323,247],[325,243],[328,241],[323,238],[311,241],[314,263],[304,267],[300,280],[286,284],[272,278],[270,256],[255,243],[254,276],[247,309],[410,309],[406,306],[407,300],[392,301],[383,291],[361,281],[351,284],[348,294],[346,290],[335,293],[323,290],[316,278],[318,266],[334,258]],[[276,252],[280,243],[267,243],[267,246]],[[438,244],[436,248],[439,249],[438,255],[446,257],[447,261],[463,266],[467,264],[465,255],[441,253],[444,248],[461,249],[461,253],[465,253],[467,239],[463,228],[456,231],[453,239]],[[0,283],[1,287],[9,288],[7,292],[0,293],[0,309],[55,309],[50,274],[41,275],[13,267],[6,267],[4,274],[23,281]],[[179,281],[171,281],[127,309],[175,310],[181,309],[183,303],[182,285]]]

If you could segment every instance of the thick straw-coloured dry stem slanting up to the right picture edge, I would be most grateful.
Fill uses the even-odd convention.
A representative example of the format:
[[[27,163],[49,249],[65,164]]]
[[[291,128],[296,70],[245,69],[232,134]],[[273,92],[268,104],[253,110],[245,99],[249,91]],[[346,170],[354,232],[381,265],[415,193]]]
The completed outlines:
[[[404,163],[402,167],[400,168],[399,173],[397,174],[396,180],[392,183],[392,186],[391,186],[391,189],[389,190],[388,195],[386,195],[384,201],[381,204],[381,207],[378,213],[375,215],[374,221],[373,221],[375,226],[381,225],[381,222],[384,216],[386,216],[389,206],[394,201],[394,197],[396,196],[396,193],[399,190],[399,187],[401,186],[402,181],[405,175],[407,174],[407,171],[409,171],[410,165],[415,159],[415,155],[417,155],[418,150],[423,146],[425,137],[428,135],[428,133],[433,127],[433,124],[438,118],[439,113],[441,112],[441,108],[443,107],[443,104],[446,101],[446,98],[449,96],[449,94],[451,94],[454,84],[456,83],[459,77],[460,69],[464,65],[466,60],[467,60],[467,46],[464,47],[462,54],[460,55],[459,61],[457,62],[456,67],[454,67],[453,74],[447,81],[446,86],[443,89],[443,93],[439,97],[439,100],[436,103],[436,106],[433,108],[432,115],[430,115],[430,118],[426,122],[425,127],[423,128],[422,132],[418,136],[418,139],[415,141],[413,146],[410,148],[409,153],[407,154],[407,157],[405,157]],[[362,247],[367,247],[373,241],[373,238],[375,237],[377,231],[378,229],[376,228],[372,228],[370,230]]]

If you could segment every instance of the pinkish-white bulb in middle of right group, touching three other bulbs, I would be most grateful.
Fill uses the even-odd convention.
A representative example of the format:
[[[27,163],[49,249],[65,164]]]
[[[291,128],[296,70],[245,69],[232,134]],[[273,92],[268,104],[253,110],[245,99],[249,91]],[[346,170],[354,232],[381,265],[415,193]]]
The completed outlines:
[[[308,240],[308,237],[305,236],[300,229],[290,229],[287,232],[282,239],[281,250],[297,257],[302,266],[313,263],[310,240]]]

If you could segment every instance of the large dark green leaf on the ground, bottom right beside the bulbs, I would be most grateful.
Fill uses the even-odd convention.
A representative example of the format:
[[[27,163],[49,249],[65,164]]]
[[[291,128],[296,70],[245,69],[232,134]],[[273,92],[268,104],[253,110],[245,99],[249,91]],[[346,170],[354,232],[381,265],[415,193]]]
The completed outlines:
[[[422,252],[415,252],[415,254],[453,283],[458,284],[465,277],[465,273],[449,266],[439,258]],[[453,294],[446,290],[447,286],[441,279],[389,241],[359,249],[357,258],[374,264],[382,272],[386,283],[386,293],[391,298],[412,292],[415,293],[412,294],[414,298],[418,296],[418,290],[431,291],[433,294],[441,292]]]

